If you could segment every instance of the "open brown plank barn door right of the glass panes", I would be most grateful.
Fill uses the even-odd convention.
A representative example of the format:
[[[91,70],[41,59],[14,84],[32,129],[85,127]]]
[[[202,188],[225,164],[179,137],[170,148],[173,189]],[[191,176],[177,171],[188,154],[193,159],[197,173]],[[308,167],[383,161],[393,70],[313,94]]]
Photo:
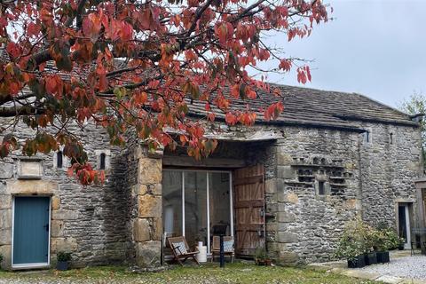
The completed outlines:
[[[235,253],[255,256],[264,248],[264,166],[235,170],[233,173],[235,212]]]

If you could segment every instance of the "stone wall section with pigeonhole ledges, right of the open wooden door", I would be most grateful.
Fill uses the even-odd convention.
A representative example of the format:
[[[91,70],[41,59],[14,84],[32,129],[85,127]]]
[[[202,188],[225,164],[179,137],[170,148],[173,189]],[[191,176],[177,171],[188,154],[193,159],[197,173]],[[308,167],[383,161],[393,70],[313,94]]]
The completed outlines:
[[[281,264],[329,260],[347,221],[361,209],[360,135],[286,127],[266,179],[267,249]],[[275,154],[273,154],[275,153]],[[319,181],[325,195],[319,195]]]

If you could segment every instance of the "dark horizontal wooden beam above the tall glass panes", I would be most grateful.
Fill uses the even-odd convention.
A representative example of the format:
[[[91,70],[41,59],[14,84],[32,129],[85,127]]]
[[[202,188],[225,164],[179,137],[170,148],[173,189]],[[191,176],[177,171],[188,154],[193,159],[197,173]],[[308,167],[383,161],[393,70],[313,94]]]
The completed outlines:
[[[171,167],[201,167],[201,168],[243,168],[246,162],[242,159],[225,159],[225,158],[207,158],[200,161],[193,157],[185,156],[164,156],[162,157],[163,166]]]

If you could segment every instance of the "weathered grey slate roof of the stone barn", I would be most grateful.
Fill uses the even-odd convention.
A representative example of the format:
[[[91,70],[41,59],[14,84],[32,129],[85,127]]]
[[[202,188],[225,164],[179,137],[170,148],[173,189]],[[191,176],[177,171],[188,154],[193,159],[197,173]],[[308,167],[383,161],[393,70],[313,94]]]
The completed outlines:
[[[288,125],[306,125],[314,127],[332,127],[359,130],[359,122],[380,122],[416,126],[412,117],[390,106],[369,99],[357,93],[339,91],[321,91],[309,88],[273,84],[280,88],[281,96],[276,97],[264,91],[257,91],[259,99],[233,99],[233,109],[250,109],[256,112],[256,123],[279,123]],[[271,122],[264,121],[261,108],[281,100],[284,111]],[[188,102],[190,114],[205,115],[204,102]],[[225,114],[213,108],[219,118]]]

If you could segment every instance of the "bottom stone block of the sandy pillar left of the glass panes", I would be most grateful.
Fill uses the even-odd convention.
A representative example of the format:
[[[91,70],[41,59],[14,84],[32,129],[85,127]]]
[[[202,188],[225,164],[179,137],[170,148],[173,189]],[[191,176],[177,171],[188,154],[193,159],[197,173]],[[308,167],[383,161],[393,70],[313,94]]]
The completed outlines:
[[[136,244],[136,263],[140,267],[155,267],[161,265],[161,254],[161,241],[146,241]]]

